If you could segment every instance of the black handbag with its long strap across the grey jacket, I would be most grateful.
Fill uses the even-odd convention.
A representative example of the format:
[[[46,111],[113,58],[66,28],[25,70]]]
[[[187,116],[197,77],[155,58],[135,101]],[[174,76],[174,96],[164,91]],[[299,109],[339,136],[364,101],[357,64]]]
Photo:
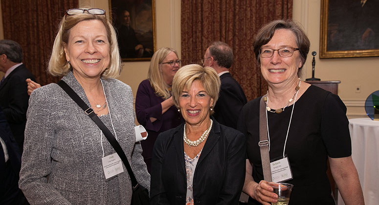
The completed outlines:
[[[126,169],[128,170],[130,179],[132,181],[133,195],[131,205],[149,205],[149,191],[137,182],[135,179],[132,167],[129,164],[128,158],[126,157],[124,151],[122,150],[120,144],[113,137],[109,129],[104,125],[100,118],[93,112],[92,108],[89,108],[88,105],[76,94],[75,91],[67,85],[63,80],[58,82],[58,85],[66,91],[68,96],[70,96],[78,105],[81,107],[84,112],[89,115],[89,117],[99,126],[100,130],[104,133],[104,136],[107,137],[109,143],[111,143],[113,149],[116,151],[117,155],[122,159]]]

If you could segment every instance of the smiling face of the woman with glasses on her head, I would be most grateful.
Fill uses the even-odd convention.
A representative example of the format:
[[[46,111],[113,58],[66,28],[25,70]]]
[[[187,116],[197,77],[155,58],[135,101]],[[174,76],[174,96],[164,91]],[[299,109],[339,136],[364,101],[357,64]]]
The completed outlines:
[[[87,20],[70,29],[66,59],[76,79],[100,78],[110,63],[110,44],[104,24]]]

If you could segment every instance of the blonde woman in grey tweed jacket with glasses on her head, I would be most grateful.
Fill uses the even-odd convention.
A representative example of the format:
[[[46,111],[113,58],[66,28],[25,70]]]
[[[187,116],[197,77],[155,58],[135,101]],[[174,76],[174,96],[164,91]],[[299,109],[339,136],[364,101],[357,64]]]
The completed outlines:
[[[48,72],[63,76],[92,108],[117,139],[136,180],[150,189],[142,148],[135,142],[133,93],[114,79],[121,72],[120,59],[103,9],[69,9]],[[59,85],[31,93],[19,181],[30,204],[130,205],[130,176],[117,157],[96,123]]]

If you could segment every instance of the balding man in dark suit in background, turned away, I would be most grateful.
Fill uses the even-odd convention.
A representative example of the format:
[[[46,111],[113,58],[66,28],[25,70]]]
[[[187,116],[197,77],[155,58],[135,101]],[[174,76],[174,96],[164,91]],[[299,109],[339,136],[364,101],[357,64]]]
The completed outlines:
[[[247,100],[240,84],[229,73],[232,63],[232,48],[223,42],[213,42],[206,49],[202,64],[215,69],[221,80],[213,116],[220,124],[237,129],[238,116]]]

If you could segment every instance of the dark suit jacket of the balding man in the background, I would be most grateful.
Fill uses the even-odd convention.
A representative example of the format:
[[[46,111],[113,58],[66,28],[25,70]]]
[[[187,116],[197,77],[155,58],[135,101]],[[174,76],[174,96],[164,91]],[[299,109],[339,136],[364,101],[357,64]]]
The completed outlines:
[[[244,90],[228,72],[222,74],[220,80],[220,94],[213,116],[220,124],[237,129],[239,114],[247,102]]]

